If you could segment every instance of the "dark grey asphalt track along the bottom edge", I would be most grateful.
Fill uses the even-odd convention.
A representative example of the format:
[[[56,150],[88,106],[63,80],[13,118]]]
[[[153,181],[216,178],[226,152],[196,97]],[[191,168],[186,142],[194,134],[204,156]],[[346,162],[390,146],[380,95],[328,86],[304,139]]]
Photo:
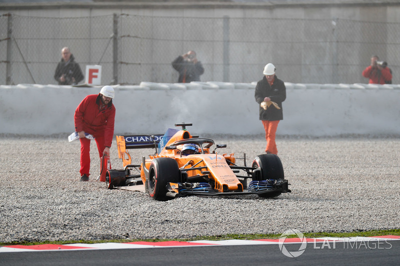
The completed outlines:
[[[300,244],[285,245],[289,251]],[[222,245],[94,251],[45,251],[0,253],[2,266],[52,265],[398,265],[400,241],[308,243],[295,258],[281,253],[278,245]]]

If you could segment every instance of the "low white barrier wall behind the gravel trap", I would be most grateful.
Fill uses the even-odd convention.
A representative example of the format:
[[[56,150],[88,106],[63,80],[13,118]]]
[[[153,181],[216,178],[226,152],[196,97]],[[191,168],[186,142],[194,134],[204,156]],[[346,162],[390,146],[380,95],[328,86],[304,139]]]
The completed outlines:
[[[286,84],[278,135],[398,134],[400,85]],[[158,134],[174,123],[193,123],[192,133],[262,134],[255,83],[114,86],[115,134]],[[0,86],[0,133],[58,134],[74,131],[73,113],[100,87]]]

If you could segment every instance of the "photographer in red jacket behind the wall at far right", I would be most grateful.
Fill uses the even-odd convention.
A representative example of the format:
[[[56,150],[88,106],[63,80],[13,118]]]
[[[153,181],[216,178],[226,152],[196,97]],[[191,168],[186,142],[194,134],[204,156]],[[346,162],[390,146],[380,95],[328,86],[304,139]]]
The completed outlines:
[[[391,83],[391,70],[387,63],[379,61],[376,55],[371,57],[371,64],[362,71],[362,76],[369,78],[368,83],[387,84]]]

